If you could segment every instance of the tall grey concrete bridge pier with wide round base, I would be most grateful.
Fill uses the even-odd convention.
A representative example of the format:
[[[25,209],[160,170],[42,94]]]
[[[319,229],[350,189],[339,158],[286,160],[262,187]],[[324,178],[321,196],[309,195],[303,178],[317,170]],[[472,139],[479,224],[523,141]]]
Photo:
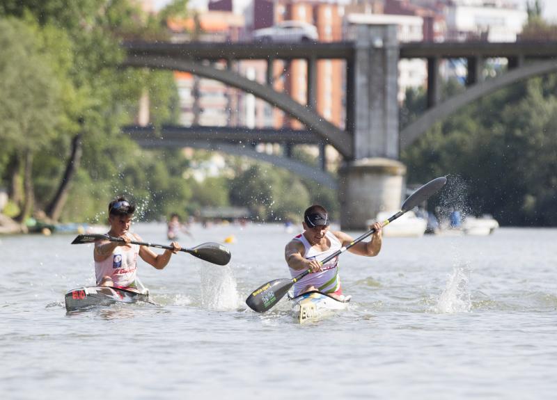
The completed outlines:
[[[358,25],[347,104],[354,160],[340,170],[340,225],[367,230],[379,211],[398,211],[406,167],[398,161],[398,59],[394,25]],[[354,112],[355,111],[355,112]]]

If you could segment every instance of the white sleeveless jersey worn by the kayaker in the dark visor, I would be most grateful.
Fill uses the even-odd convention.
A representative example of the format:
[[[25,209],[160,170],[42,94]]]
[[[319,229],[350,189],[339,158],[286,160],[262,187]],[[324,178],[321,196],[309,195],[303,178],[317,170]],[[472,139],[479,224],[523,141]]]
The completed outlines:
[[[331,232],[327,231],[325,233],[325,237],[327,237],[327,239],[329,239],[329,241],[331,242],[331,247],[329,247],[329,249],[325,251],[315,250],[303,234],[299,234],[294,239],[301,241],[301,243],[304,245],[304,248],[306,248],[304,258],[317,259],[317,261],[322,261],[343,246],[343,243],[340,243],[336,236]],[[331,259],[331,261],[327,262],[327,264],[321,266],[321,268],[323,269],[322,272],[309,273],[294,284],[294,296],[298,296],[300,291],[304,290],[310,285],[313,285],[319,291],[322,291],[324,293],[334,293],[335,291],[338,291],[340,289],[340,278],[338,276],[338,256],[334,257],[334,259]],[[302,272],[303,271],[290,268],[290,275],[292,275],[292,278]]]

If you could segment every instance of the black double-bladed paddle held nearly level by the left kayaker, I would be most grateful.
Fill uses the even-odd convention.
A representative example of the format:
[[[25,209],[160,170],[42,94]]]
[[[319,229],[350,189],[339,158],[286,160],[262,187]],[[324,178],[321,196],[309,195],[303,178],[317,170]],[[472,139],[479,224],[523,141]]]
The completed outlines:
[[[108,240],[116,241],[118,243],[124,243],[125,240],[121,237],[111,237],[107,234],[79,234],[72,241],[72,244],[84,244],[93,243],[94,241]],[[143,241],[130,241],[132,244],[139,244],[139,246],[149,246],[156,248],[165,248],[168,250],[174,250],[172,246],[165,246],[163,244],[146,243]],[[207,262],[212,262],[213,264],[226,265],[230,261],[230,250],[226,246],[222,246],[219,243],[202,243],[194,248],[180,248],[180,251],[184,253],[189,253],[194,257],[201,258]]]

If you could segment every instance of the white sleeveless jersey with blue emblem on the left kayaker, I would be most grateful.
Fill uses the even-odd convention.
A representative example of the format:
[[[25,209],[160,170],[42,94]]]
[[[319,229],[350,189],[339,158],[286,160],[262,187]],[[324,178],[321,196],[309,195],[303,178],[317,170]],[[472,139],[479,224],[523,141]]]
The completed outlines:
[[[136,238],[130,234],[132,240]],[[97,285],[104,276],[109,276],[117,287],[132,287],[136,281],[137,256],[139,255],[139,245],[130,244],[127,246],[117,246],[112,254],[104,261],[95,261],[95,275]]]

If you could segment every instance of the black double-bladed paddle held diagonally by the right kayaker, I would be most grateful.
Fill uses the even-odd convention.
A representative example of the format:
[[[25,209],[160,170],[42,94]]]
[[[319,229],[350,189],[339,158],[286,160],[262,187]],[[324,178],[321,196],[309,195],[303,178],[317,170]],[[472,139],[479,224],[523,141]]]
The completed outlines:
[[[402,216],[402,214],[405,214],[405,212],[413,209],[417,205],[430,198],[430,196],[439,191],[439,189],[441,189],[444,184],[446,184],[446,182],[446,177],[439,177],[421,186],[420,189],[412,193],[410,197],[407,198],[404,203],[402,203],[400,211],[391,216],[391,218],[389,218],[388,220],[384,221],[382,223],[382,226],[384,227],[386,225],[389,225],[389,223]],[[359,243],[363,239],[366,239],[366,237],[370,236],[370,234],[373,234],[374,232],[375,229],[373,228],[368,230],[368,232],[361,235],[361,237],[358,237],[354,241],[350,242],[349,245],[336,250],[335,253],[321,260],[320,264],[326,264],[327,262],[331,261],[331,259],[334,259],[334,257],[337,257],[341,253],[344,253],[346,250],[354,246],[354,244]],[[274,305],[276,305],[276,303],[278,303],[281,298],[283,298],[288,290],[290,290],[292,285],[294,285],[301,278],[304,278],[304,276],[308,275],[310,271],[310,269],[306,269],[306,271],[295,276],[295,278],[275,279],[265,283],[265,285],[261,285],[260,287],[258,287],[258,289],[254,290],[253,293],[248,296],[248,298],[246,298],[246,304],[253,311],[265,312],[269,310],[271,307],[274,307]]]

